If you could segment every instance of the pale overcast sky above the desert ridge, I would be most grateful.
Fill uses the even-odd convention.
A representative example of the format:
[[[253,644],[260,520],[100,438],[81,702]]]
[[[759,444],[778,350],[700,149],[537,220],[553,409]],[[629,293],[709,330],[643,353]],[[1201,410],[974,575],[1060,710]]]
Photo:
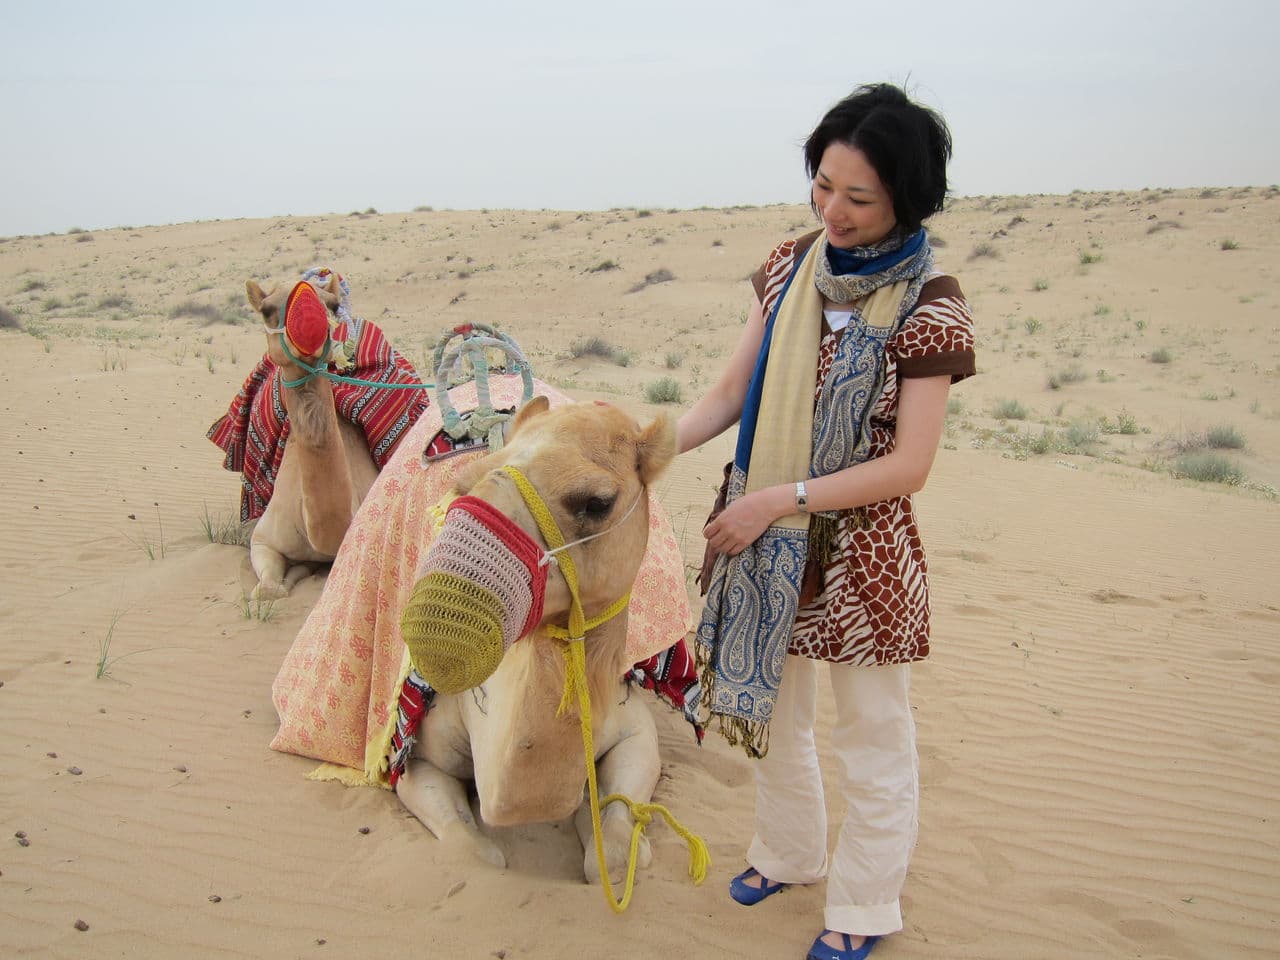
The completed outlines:
[[[803,202],[865,81],[952,191],[1280,182],[1274,0],[0,0],[0,236],[435,209]]]

